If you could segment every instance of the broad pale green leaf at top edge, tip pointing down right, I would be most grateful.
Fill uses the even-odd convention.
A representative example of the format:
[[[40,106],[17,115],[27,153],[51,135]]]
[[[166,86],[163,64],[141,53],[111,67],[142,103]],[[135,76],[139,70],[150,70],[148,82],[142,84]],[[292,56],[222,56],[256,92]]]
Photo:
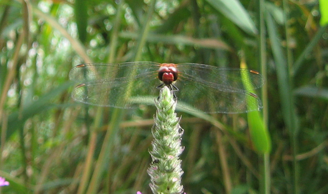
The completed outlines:
[[[246,9],[237,0],[206,0],[217,11],[229,18],[237,26],[250,34],[257,34],[254,22],[251,20]]]

